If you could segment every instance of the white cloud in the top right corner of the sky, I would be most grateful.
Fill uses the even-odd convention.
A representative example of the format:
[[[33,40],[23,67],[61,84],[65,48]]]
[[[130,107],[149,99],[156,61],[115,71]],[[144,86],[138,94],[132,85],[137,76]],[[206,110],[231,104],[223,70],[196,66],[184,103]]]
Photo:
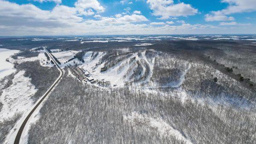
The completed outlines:
[[[227,17],[226,15],[256,11],[255,0],[221,0],[221,3],[227,3],[227,8],[219,11],[212,11],[211,14],[206,14],[206,21],[234,20],[234,17]]]

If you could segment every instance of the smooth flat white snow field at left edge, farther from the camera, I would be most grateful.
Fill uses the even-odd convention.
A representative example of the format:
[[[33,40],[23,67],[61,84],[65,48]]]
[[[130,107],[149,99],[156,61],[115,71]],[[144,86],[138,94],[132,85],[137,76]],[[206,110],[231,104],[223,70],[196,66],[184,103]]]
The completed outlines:
[[[0,79],[15,72],[13,64],[6,61],[6,59],[17,52],[19,50],[0,49]]]

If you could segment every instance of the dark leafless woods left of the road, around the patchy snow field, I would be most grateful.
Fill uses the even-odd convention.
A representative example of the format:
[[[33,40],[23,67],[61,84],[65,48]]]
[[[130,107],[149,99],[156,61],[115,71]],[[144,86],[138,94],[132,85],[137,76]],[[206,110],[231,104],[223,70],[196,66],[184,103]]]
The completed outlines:
[[[38,54],[37,54],[38,55]],[[38,91],[35,95],[32,96],[34,102],[40,98],[44,92],[49,88],[50,85],[55,81],[58,77],[58,70],[56,68],[49,68],[41,66],[39,61],[31,61],[17,64],[15,63],[15,68],[17,71],[12,73],[11,75],[6,76],[0,81],[0,95],[2,94],[2,90],[8,88],[12,84],[12,79],[14,75],[16,75],[19,71],[25,70],[25,77],[31,78],[31,83],[35,85]],[[2,104],[0,103],[0,111],[2,109]],[[15,125],[17,120],[21,117],[21,113],[16,113],[13,117],[9,119],[5,119],[0,122],[0,143],[5,141],[6,135]]]

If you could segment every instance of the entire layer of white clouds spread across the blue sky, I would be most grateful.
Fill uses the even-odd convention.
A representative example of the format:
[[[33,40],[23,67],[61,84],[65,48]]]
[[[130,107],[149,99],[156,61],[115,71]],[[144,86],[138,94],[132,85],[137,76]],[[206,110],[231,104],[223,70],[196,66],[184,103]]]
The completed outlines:
[[[174,3],[173,0],[145,1],[144,3],[152,10],[152,17],[155,17],[153,20],[141,9],[127,7],[131,5],[131,0],[125,1],[126,6],[121,8],[122,12],[108,16],[105,14],[108,7],[98,0],[77,0],[71,7],[63,5],[61,0],[34,1],[56,4],[51,10],[43,10],[32,3],[17,4],[0,0],[0,35],[198,34],[229,32],[227,28],[226,31],[221,29],[227,26],[240,26],[238,30],[246,32],[244,29],[251,26],[250,23],[235,22],[235,18],[230,14],[238,12],[233,10],[233,7],[240,7],[239,12],[255,10],[253,4],[249,6],[238,0],[222,0],[222,3],[229,5],[226,9],[212,11],[203,15],[202,19],[205,18],[209,23],[230,22],[220,22],[213,26],[190,24],[189,20],[182,20],[189,15],[198,14],[198,9],[190,4]],[[243,26],[244,29],[241,29]]]

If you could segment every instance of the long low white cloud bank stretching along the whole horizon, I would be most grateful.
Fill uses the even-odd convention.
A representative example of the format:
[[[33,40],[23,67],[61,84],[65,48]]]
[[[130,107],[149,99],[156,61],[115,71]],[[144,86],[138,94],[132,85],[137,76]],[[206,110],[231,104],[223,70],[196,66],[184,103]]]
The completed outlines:
[[[198,34],[198,33],[255,33],[249,24],[237,23],[240,29],[212,25],[154,26],[145,24],[148,19],[141,14],[117,14],[101,17],[93,8],[96,19],[88,20],[78,13],[77,7],[56,5],[52,10],[42,10],[32,4],[18,5],[0,0],[0,35],[97,35],[97,34]],[[90,12],[90,10],[89,10]],[[137,24],[141,22],[142,24]],[[247,25],[247,26],[245,26]],[[247,30],[247,31],[246,31]]]

